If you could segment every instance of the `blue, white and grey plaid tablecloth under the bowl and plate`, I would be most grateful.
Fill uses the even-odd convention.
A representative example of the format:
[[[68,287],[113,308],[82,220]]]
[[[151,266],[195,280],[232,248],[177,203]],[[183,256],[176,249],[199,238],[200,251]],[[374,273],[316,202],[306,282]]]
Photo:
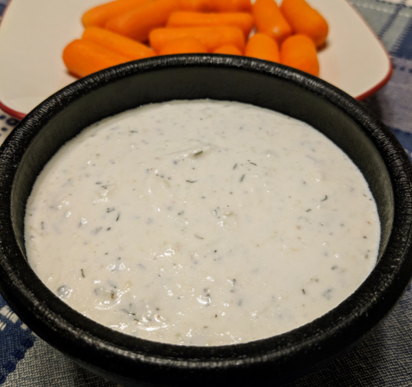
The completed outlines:
[[[7,2],[0,0],[0,14]],[[363,103],[393,131],[412,160],[412,0],[351,2],[387,47],[393,61],[391,80]],[[0,143],[16,124],[16,119],[0,110]],[[115,386],[73,364],[36,337],[1,296],[0,385]],[[411,286],[387,319],[355,349],[288,385],[309,386],[412,386]]]

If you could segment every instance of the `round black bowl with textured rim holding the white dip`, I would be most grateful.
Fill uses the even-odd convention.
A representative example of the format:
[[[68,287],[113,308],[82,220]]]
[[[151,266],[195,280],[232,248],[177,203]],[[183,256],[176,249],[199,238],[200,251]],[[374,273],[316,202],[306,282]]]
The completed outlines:
[[[126,336],[75,312],[25,259],[25,204],[36,176],[82,128],[171,99],[236,100],[308,122],[347,153],[378,205],[378,263],[343,303],[317,320],[264,340],[182,347]],[[308,373],[361,340],[407,288],[412,274],[412,170],[395,137],[369,110],[330,84],[282,65],[231,56],[170,56],[90,75],[36,107],[0,149],[0,291],[45,341],[121,384],[275,384]]]

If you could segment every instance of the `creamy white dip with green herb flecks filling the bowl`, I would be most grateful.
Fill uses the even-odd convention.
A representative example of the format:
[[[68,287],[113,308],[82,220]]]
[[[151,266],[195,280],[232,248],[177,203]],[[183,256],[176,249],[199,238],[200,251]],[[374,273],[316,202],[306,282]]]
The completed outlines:
[[[124,333],[220,345],[283,333],[352,294],[380,225],[361,172],[317,130],[236,102],[152,104],[63,146],[27,203],[27,257]]]

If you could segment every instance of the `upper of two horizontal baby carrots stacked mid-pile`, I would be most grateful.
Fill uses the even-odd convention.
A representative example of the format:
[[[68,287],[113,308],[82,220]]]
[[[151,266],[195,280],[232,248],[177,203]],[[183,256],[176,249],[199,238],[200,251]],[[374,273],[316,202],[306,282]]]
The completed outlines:
[[[167,27],[216,27],[228,25],[238,27],[244,36],[249,36],[253,27],[253,17],[247,12],[173,12]]]

